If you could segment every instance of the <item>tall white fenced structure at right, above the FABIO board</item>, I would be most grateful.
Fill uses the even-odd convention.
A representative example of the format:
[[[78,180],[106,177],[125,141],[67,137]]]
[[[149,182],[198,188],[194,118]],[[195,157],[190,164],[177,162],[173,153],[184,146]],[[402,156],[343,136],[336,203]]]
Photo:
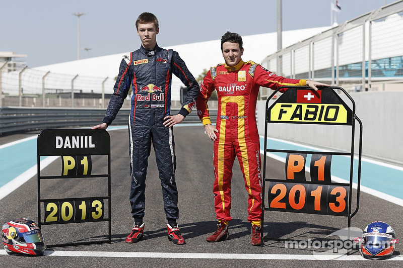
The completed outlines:
[[[402,36],[403,1],[397,1],[277,51],[262,65],[282,76],[308,77],[350,92],[400,91]]]

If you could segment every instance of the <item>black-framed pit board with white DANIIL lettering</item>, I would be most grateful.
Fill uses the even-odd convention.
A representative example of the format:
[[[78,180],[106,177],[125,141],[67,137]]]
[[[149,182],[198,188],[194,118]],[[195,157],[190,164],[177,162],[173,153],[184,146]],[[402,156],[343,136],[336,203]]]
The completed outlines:
[[[41,175],[41,156],[87,156],[107,155],[107,174],[68,174],[68,175]],[[108,238],[96,241],[71,242],[47,245],[48,247],[62,247],[88,244],[111,243],[111,165],[110,165],[110,136],[106,130],[91,129],[44,129],[38,135],[37,141],[37,185],[38,185],[38,225],[68,224],[78,222],[108,222]],[[91,163],[91,162],[90,162]],[[56,178],[108,178],[108,196],[92,196],[82,198],[41,198],[41,180]],[[108,218],[104,213],[104,200],[108,204]],[[44,221],[42,221],[41,203],[45,206]],[[48,206],[48,210],[46,210]],[[79,211],[82,213],[79,214]],[[81,215],[81,216],[80,216]]]

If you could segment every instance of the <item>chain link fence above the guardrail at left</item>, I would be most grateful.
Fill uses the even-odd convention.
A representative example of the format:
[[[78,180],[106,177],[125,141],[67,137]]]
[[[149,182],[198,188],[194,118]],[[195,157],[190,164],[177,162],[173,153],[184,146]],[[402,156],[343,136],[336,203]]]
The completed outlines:
[[[11,72],[2,69],[0,106],[105,108],[114,83],[113,77],[51,73],[26,66]],[[129,107],[125,102],[124,108]]]

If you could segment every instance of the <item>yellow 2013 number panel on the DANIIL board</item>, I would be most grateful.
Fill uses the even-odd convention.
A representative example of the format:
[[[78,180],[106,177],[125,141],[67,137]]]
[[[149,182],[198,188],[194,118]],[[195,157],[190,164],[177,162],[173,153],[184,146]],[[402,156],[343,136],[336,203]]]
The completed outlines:
[[[72,223],[102,220],[103,200],[73,200],[44,202],[45,223]]]

